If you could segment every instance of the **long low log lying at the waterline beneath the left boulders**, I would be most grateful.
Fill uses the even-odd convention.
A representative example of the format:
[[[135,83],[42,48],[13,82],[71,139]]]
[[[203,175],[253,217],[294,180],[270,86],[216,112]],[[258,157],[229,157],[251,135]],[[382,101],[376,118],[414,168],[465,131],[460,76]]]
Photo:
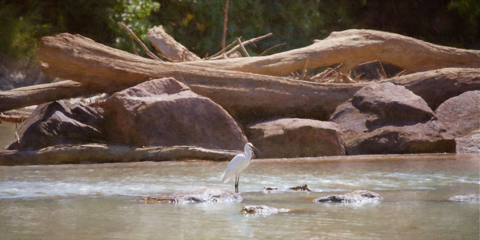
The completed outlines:
[[[184,159],[229,160],[240,151],[195,146],[143,147],[82,144],[56,145],[39,150],[0,150],[0,165],[86,164]]]

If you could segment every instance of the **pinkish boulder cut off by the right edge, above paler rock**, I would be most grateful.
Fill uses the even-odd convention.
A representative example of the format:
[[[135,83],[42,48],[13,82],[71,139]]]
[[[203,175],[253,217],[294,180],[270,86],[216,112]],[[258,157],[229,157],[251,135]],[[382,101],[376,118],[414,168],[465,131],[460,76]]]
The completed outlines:
[[[480,90],[467,91],[447,99],[435,110],[438,120],[454,137],[480,128]]]

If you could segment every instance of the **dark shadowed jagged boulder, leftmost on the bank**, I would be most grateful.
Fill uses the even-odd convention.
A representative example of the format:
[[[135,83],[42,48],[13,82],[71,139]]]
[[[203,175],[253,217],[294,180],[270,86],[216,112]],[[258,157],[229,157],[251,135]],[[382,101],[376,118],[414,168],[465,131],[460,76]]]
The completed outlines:
[[[18,129],[8,150],[36,150],[59,144],[102,143],[103,110],[67,100],[38,105]]]

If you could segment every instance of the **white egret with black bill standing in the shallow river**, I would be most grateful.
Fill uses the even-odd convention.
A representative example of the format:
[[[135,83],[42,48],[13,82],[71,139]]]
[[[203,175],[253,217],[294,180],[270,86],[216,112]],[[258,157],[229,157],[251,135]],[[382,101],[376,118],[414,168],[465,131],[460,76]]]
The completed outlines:
[[[245,169],[245,167],[250,163],[251,159],[251,149],[255,150],[256,152],[260,153],[250,142],[245,144],[243,147],[245,150],[245,154],[240,153],[231,159],[230,163],[226,167],[225,173],[221,177],[221,181],[226,183],[230,177],[233,175],[235,176],[235,192],[238,193],[238,181],[240,180],[240,172]]]

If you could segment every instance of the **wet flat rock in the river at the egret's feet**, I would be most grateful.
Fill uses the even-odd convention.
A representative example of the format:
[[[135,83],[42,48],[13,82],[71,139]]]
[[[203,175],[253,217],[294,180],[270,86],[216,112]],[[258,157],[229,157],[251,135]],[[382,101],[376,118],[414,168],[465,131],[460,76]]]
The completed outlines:
[[[221,187],[199,187],[194,190],[179,191],[168,195],[172,203],[191,202],[239,202],[243,200],[240,194]]]

